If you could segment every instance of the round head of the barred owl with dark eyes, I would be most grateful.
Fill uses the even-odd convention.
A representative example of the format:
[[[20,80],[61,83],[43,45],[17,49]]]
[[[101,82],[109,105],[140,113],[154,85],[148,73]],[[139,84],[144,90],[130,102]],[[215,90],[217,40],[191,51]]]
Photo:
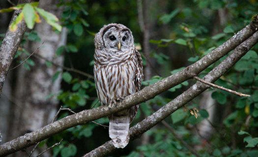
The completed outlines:
[[[134,38],[129,28],[122,24],[103,26],[95,35],[95,49],[111,52],[125,52],[134,45]]]

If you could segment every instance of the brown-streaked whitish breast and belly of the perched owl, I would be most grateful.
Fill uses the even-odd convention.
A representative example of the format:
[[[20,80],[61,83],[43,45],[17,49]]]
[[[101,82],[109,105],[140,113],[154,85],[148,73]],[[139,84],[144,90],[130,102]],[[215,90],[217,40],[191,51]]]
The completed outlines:
[[[116,64],[94,64],[97,94],[102,105],[110,105],[136,92],[135,56]]]

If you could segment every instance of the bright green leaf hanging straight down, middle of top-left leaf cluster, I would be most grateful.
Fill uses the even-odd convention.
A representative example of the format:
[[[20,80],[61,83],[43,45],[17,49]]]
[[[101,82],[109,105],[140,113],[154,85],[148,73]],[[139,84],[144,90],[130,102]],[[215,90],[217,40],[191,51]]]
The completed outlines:
[[[24,20],[29,29],[32,29],[35,25],[36,13],[33,6],[29,3],[25,4],[23,7]]]

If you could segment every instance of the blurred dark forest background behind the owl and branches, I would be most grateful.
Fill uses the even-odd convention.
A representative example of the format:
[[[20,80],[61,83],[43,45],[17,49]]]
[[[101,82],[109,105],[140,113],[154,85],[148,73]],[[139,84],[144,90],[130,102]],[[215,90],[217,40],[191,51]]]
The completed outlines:
[[[11,7],[9,1],[0,0],[0,9]],[[248,25],[258,13],[257,0],[39,0],[38,7],[55,14],[63,28],[58,32],[44,20],[28,28],[12,68],[39,50],[8,73],[0,98],[2,142],[51,123],[60,106],[74,112],[99,106],[92,79],[93,41],[94,33],[103,25],[120,23],[133,32],[143,57],[144,87],[197,61]],[[1,40],[11,16],[12,12],[0,14]],[[159,124],[110,156],[257,156],[257,51],[256,45],[215,82],[252,97],[210,88],[165,120],[170,129]],[[199,77],[215,65],[218,63]],[[183,82],[140,105],[132,125],[195,82]],[[63,110],[58,119],[69,114]],[[102,118],[95,122],[108,125],[109,121]],[[42,156],[80,157],[109,140],[108,128],[88,123],[62,131],[40,142],[34,154],[61,139],[58,146]]]

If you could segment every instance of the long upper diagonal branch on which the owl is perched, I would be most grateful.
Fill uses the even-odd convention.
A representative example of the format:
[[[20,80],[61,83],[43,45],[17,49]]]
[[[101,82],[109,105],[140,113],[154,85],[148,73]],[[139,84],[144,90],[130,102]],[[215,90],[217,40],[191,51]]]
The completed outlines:
[[[106,117],[112,113],[121,111],[125,108],[131,107],[133,105],[141,104],[147,100],[150,100],[154,98],[156,95],[167,91],[168,89],[172,88],[173,86],[184,82],[185,80],[188,80],[190,78],[193,78],[194,76],[197,76],[201,71],[206,69],[208,66],[216,62],[218,59],[226,55],[228,52],[233,50],[236,46],[244,42],[247,38],[249,38],[252,34],[256,32],[257,28],[257,21],[252,21],[250,25],[246,26],[242,30],[240,30],[237,34],[235,34],[233,37],[231,37],[228,41],[226,41],[224,44],[222,44],[220,47],[216,48],[209,54],[202,57],[199,61],[196,63],[188,66],[184,70],[168,77],[164,78],[157,83],[154,83],[150,86],[147,86],[143,88],[143,90],[134,93],[128,97],[126,97],[123,101],[117,103],[116,106],[112,107],[111,109],[108,106],[100,106],[97,108],[93,108],[90,110],[84,110],[79,113],[67,116],[65,118],[62,118],[52,124],[49,124],[39,130],[27,133],[23,136],[20,136],[12,141],[6,142],[3,145],[0,145],[0,157],[6,156],[8,154],[17,152],[21,149],[24,149],[26,147],[29,147],[41,140],[44,140],[51,135],[54,135],[60,131],[66,130],[68,128],[85,124],[87,122],[93,121],[95,119],[99,119],[102,117]],[[234,60],[234,59],[232,59]],[[219,72],[218,72],[219,73]],[[183,93],[184,94],[184,93]],[[186,96],[189,97],[189,94]],[[189,97],[191,98],[191,97]],[[178,98],[179,99],[179,98]],[[193,99],[193,98],[192,98]],[[175,99],[176,100],[176,99]],[[183,100],[183,99],[182,99]],[[180,99],[177,100],[176,103],[179,103]],[[190,100],[189,100],[190,101]],[[185,101],[182,101],[182,103],[187,103]],[[180,106],[179,105],[179,106]],[[166,105],[167,106],[167,105]],[[171,105],[169,105],[171,107]],[[178,107],[179,107],[178,106]],[[164,106],[165,107],[165,106]],[[177,109],[177,107],[172,107],[172,109]],[[174,111],[172,110],[172,111]],[[170,112],[169,112],[170,111]],[[155,114],[155,116],[162,116],[164,114],[165,116],[168,113],[172,113],[170,110],[165,110],[164,113],[160,113],[159,111],[156,112],[158,115]],[[152,120],[155,119],[155,117],[151,117]],[[161,118],[162,119],[162,118]],[[155,123],[152,121],[145,121],[143,120],[145,124],[150,123],[151,126]],[[138,127],[141,128],[141,124],[136,125],[132,128],[132,137],[134,137],[134,132],[137,134],[142,134],[144,130],[141,129],[140,132],[137,130]],[[147,126],[146,126],[147,127]],[[135,135],[137,135],[135,134]]]

